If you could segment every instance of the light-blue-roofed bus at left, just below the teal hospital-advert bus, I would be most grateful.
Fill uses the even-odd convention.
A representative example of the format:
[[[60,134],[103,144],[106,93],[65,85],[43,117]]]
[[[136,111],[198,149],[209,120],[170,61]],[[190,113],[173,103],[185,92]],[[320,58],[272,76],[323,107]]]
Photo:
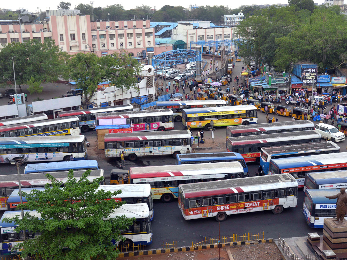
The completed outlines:
[[[51,162],[51,163],[32,163],[27,164],[24,168],[24,173],[36,172],[64,172],[64,171],[86,171],[100,170],[98,161],[83,160],[83,161],[67,161],[67,162]]]

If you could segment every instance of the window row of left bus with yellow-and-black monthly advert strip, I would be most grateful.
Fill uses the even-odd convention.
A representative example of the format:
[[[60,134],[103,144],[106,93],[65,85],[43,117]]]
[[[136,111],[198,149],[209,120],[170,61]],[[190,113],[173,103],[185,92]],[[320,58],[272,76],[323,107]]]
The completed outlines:
[[[69,129],[69,128],[77,128],[77,127],[78,127],[78,121],[67,122],[67,123],[46,125],[41,127],[31,127],[31,128],[1,132],[0,137],[18,137],[18,136],[34,135],[36,133],[51,132],[51,131]]]

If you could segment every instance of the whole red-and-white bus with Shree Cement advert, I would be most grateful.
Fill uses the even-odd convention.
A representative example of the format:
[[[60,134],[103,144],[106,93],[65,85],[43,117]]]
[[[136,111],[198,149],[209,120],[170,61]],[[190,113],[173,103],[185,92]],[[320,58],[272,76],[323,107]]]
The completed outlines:
[[[296,207],[298,184],[290,174],[256,176],[179,185],[178,205],[184,219]]]

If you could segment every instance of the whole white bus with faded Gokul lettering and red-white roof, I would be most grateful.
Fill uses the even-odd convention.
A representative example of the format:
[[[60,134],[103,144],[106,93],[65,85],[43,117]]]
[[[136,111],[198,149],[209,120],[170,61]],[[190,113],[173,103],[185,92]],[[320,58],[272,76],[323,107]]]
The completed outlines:
[[[119,157],[120,153],[136,161],[137,156],[185,153],[191,148],[191,132],[189,130],[138,133],[105,134],[105,156]]]

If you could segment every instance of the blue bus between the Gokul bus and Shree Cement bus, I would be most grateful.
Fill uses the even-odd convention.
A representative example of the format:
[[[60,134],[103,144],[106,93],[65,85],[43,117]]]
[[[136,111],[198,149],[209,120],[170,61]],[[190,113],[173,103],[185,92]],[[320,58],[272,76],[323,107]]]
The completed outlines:
[[[198,153],[176,155],[176,164],[222,162],[240,162],[245,175],[247,175],[248,173],[248,167],[246,165],[245,159],[239,153]]]

